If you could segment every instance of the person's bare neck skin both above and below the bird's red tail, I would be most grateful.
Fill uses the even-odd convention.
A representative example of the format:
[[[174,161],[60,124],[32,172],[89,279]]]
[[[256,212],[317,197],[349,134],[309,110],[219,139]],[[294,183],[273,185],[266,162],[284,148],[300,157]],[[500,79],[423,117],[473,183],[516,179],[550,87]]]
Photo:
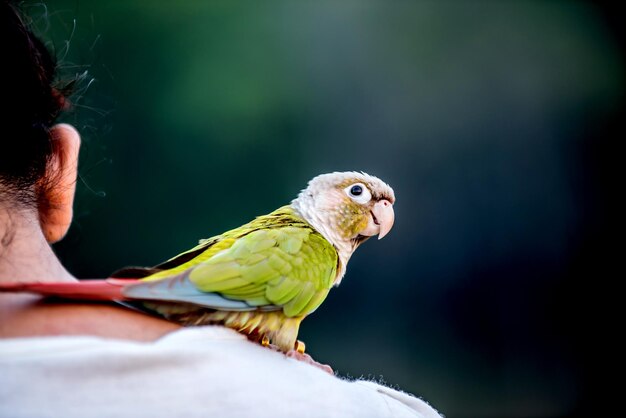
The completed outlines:
[[[0,283],[75,282],[46,242],[35,211],[0,205]],[[0,340],[95,335],[154,341],[180,326],[110,304],[58,302],[26,293],[0,293]]]

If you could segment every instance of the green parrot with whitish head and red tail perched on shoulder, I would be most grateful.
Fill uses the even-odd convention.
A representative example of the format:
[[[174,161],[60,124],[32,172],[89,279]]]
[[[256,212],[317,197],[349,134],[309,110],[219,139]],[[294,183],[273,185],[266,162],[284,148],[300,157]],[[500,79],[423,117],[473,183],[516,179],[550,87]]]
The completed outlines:
[[[290,204],[154,267],[0,290],[114,300],[183,326],[224,325],[264,346],[302,354],[300,323],[341,283],[354,251],[389,233],[394,203],[393,189],[375,176],[321,174]]]

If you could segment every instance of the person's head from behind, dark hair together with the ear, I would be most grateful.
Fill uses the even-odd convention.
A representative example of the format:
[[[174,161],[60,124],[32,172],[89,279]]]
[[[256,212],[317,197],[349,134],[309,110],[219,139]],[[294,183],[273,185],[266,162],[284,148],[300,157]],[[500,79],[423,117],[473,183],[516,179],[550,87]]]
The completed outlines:
[[[68,100],[67,89],[54,86],[53,56],[16,6],[0,1],[0,45],[6,60],[0,209],[35,211],[52,243],[65,235],[72,219],[80,136],[70,125],[55,125]]]

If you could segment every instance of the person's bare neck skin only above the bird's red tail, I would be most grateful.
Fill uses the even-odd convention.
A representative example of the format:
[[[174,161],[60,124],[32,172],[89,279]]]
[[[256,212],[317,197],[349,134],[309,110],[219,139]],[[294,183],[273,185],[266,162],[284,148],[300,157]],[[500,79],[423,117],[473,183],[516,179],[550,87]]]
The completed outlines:
[[[46,242],[37,212],[0,203],[0,282],[75,280]]]

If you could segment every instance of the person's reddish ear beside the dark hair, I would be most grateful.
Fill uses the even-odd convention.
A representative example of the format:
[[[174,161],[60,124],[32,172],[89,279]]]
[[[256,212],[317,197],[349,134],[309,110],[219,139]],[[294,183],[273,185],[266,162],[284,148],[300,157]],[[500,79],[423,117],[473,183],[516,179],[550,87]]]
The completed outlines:
[[[39,223],[52,244],[65,236],[72,223],[74,193],[78,175],[80,135],[67,124],[50,129],[52,155],[39,188]]]

